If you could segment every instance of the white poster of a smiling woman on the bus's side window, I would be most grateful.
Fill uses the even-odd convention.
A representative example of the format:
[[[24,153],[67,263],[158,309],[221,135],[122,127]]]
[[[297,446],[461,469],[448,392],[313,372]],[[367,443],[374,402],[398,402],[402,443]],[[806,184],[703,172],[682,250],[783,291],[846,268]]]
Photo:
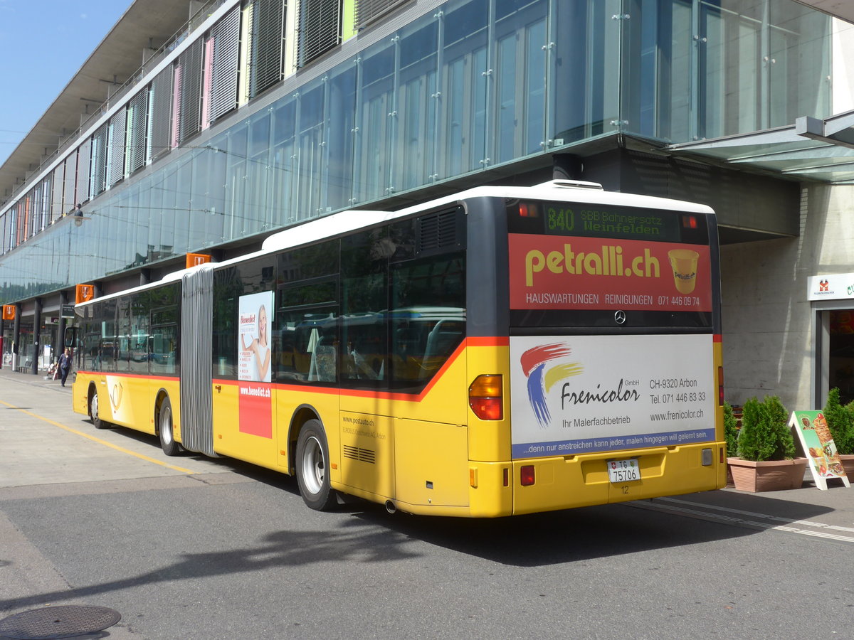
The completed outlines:
[[[238,314],[237,378],[269,382],[272,291],[241,296]]]

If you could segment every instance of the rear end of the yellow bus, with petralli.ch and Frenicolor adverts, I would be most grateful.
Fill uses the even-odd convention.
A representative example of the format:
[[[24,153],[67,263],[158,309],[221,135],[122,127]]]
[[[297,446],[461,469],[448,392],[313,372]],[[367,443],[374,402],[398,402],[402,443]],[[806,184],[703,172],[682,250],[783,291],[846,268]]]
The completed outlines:
[[[506,201],[513,513],[724,486],[707,207]]]

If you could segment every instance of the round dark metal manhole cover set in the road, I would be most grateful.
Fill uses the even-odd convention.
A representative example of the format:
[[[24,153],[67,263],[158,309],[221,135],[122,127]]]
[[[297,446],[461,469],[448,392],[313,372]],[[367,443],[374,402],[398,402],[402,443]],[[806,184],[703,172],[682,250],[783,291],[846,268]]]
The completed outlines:
[[[119,620],[121,614],[106,607],[44,607],[3,618],[0,620],[0,636],[15,640],[83,636],[102,631]]]

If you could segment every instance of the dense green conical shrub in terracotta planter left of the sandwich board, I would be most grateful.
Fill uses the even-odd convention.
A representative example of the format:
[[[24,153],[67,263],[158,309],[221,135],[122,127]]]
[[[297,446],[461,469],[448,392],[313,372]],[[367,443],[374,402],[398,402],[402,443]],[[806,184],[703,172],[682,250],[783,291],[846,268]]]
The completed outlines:
[[[766,396],[761,403],[756,398],[747,400],[741,416],[739,457],[752,462],[794,457],[795,443],[787,422],[786,409],[776,396]]]

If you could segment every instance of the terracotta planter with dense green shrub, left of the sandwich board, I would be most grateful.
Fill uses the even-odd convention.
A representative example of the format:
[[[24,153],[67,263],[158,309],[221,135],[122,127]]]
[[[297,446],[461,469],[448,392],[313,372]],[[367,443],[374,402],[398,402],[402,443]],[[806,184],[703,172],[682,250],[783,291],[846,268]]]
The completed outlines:
[[[804,482],[807,460],[795,458],[788,414],[780,399],[747,400],[741,416],[738,456],[727,458],[735,488],[748,492],[798,489]]]

